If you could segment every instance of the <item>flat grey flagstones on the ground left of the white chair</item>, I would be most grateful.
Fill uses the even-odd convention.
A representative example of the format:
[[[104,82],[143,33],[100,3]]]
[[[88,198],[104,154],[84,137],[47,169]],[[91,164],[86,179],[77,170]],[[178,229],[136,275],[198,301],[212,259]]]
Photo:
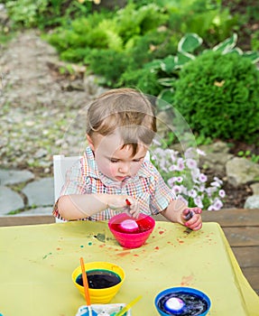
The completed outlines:
[[[53,177],[0,169],[0,216],[51,215],[53,204]]]

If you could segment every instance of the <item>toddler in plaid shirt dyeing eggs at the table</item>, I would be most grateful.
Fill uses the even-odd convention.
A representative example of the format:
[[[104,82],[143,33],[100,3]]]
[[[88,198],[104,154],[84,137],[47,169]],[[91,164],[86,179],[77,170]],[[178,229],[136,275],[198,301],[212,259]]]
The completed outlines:
[[[107,220],[127,210],[162,214],[199,230],[201,209],[175,199],[147,157],[156,133],[148,98],[132,88],[109,90],[88,107],[88,147],[69,170],[53,215],[73,220]],[[190,216],[191,215],[191,216]]]

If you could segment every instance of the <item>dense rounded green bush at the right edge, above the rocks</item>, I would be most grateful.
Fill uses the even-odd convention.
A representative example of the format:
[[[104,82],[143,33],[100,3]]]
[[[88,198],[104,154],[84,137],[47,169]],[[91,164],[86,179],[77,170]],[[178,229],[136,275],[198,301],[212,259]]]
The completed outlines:
[[[235,52],[207,51],[185,64],[174,107],[194,132],[253,142],[259,132],[259,71]]]

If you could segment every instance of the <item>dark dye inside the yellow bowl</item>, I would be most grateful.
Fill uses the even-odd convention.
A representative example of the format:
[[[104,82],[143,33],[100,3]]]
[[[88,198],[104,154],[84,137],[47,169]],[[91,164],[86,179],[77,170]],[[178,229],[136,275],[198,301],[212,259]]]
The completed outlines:
[[[87,276],[90,289],[105,289],[121,282],[120,276],[109,270],[90,270]],[[82,274],[79,274],[76,283],[83,286]]]

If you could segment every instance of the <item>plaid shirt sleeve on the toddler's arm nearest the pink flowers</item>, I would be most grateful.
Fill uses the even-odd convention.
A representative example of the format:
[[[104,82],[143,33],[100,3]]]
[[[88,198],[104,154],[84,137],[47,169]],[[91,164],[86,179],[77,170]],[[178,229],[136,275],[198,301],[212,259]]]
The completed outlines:
[[[150,209],[152,214],[158,214],[163,209],[166,209],[172,200],[175,200],[175,196],[165,181],[163,181],[162,175],[154,167],[153,163],[150,163],[149,168],[153,172],[150,183]]]

